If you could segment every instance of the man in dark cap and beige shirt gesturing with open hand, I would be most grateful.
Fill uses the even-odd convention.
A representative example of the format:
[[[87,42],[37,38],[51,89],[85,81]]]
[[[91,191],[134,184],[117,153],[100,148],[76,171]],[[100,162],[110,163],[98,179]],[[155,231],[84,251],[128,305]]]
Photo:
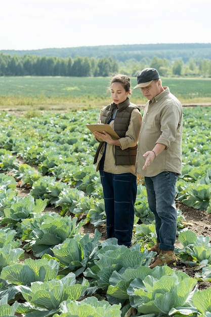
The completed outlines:
[[[182,117],[180,101],[162,87],[155,68],[145,68],[137,75],[146,103],[138,152],[136,173],[145,177],[149,208],[155,216],[157,243],[148,251],[158,253],[150,265],[170,264],[176,260],[174,244],[177,230],[175,206],[176,181],[182,170]]]

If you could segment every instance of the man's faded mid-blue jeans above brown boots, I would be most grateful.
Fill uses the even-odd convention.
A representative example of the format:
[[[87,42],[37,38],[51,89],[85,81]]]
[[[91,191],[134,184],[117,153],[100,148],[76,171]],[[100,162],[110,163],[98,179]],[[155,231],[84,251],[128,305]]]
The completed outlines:
[[[160,250],[174,250],[177,231],[177,209],[175,205],[178,174],[162,172],[145,177],[149,208],[155,216],[157,242]]]

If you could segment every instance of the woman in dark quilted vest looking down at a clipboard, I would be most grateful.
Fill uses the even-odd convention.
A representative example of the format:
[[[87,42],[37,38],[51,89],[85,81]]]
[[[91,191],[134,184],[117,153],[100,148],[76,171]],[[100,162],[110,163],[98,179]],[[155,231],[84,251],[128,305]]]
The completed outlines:
[[[97,163],[103,185],[107,239],[115,237],[119,245],[130,247],[137,194],[135,162],[142,115],[130,102],[129,77],[114,75],[109,90],[113,102],[101,109],[98,122],[109,124],[119,139],[112,139],[105,131],[95,131],[96,139],[102,141],[94,164]]]

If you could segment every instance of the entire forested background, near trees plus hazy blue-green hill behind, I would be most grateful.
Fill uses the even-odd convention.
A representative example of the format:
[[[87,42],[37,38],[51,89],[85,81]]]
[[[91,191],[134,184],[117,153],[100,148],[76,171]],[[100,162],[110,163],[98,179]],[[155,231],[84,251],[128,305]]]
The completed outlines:
[[[211,44],[97,46],[0,51],[0,76],[136,76],[145,67],[161,76],[211,77]]]

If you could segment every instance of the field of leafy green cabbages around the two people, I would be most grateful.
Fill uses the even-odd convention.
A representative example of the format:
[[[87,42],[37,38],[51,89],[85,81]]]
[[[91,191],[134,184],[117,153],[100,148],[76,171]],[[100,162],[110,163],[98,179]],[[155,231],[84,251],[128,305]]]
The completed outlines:
[[[210,214],[210,107],[183,110],[176,199]],[[0,316],[211,317],[211,287],[197,285],[211,282],[211,243],[187,229],[181,210],[175,252],[194,276],[175,269],[177,263],[148,267],[156,235],[143,179],[133,246],[101,240],[104,200],[93,165],[98,144],[86,127],[98,114],[0,112]],[[96,228],[94,236],[81,233],[86,223]]]

